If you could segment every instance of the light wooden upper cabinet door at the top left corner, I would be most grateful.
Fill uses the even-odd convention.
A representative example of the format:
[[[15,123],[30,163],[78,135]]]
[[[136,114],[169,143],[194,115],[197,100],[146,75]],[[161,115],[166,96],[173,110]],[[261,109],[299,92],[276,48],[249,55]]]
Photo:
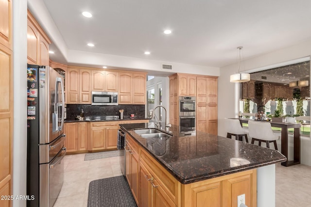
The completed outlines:
[[[0,0],[0,14],[0,43],[13,49],[12,0]]]

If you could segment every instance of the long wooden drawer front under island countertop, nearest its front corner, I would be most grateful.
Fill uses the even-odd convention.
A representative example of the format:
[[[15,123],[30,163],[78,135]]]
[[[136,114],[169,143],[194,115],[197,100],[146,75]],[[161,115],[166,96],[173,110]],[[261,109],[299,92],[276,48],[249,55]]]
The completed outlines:
[[[140,161],[146,166],[161,188],[179,206],[181,184],[166,169],[164,169],[149,153],[140,150]]]

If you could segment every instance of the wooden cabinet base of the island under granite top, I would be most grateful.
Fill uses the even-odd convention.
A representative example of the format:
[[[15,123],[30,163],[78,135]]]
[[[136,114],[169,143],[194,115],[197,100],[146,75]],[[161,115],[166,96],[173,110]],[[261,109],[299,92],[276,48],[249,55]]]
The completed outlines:
[[[257,206],[256,169],[181,184],[130,135],[126,178],[138,207],[236,207],[241,194],[246,206]]]

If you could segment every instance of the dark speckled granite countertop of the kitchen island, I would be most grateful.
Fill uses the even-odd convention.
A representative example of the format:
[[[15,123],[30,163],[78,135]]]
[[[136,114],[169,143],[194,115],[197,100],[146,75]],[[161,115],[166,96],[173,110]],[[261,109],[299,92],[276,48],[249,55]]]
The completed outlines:
[[[286,160],[274,149],[196,131],[185,136],[172,125],[168,139],[142,138],[133,129],[153,128],[152,123],[120,124],[182,184],[250,170]]]

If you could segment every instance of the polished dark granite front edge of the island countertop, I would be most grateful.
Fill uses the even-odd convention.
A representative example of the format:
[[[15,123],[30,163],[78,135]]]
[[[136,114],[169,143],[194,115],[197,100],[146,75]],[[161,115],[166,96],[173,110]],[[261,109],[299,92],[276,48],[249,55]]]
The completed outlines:
[[[129,131],[122,127],[121,128],[125,131],[127,131],[128,135],[130,135],[140,146],[142,146],[153,158],[155,158],[171,175],[173,175],[181,184],[190,184],[190,183],[194,183],[194,182],[198,182],[198,181],[202,181],[202,180],[207,180],[207,179],[211,179],[211,178],[215,178],[215,177],[220,177],[220,176],[224,176],[224,175],[229,175],[229,174],[234,174],[234,173],[238,173],[238,172],[242,172],[242,171],[247,171],[247,170],[251,170],[251,169],[255,169],[255,168],[259,168],[259,167],[263,167],[263,166],[267,166],[267,165],[271,165],[271,164],[276,164],[279,162],[283,162],[286,161],[285,156],[283,156],[283,159],[270,159],[269,161],[262,161],[262,162],[253,162],[251,164],[246,164],[246,165],[241,165],[241,166],[237,166],[237,167],[232,167],[230,169],[223,169],[221,171],[214,171],[214,172],[207,172],[204,175],[198,175],[198,176],[191,176],[191,177],[185,177],[180,175],[179,173],[177,173],[173,167],[171,167],[168,163],[166,163],[163,159],[161,159],[160,157],[158,157],[157,155],[155,155],[149,148],[147,148],[144,144],[140,143],[139,140],[133,136],[132,133],[129,133]],[[138,135],[139,136],[139,135]]]

